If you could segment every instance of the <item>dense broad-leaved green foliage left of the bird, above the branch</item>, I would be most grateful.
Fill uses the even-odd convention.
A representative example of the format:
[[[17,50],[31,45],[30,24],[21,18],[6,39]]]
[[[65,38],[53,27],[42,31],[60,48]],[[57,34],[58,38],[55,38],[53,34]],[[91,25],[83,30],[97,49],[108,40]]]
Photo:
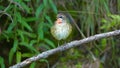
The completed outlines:
[[[7,43],[10,46],[7,65],[13,62],[19,63],[23,58],[42,52],[41,46],[46,50],[56,47],[49,38],[49,29],[53,22],[47,11],[53,10],[51,12],[54,15],[57,14],[57,8],[52,0],[43,0],[43,2],[8,0],[6,3],[1,1],[0,9],[0,28],[2,29],[0,41],[4,41],[1,45],[5,46],[4,43]],[[2,64],[4,59],[1,57]],[[32,65],[34,67],[35,64]]]

